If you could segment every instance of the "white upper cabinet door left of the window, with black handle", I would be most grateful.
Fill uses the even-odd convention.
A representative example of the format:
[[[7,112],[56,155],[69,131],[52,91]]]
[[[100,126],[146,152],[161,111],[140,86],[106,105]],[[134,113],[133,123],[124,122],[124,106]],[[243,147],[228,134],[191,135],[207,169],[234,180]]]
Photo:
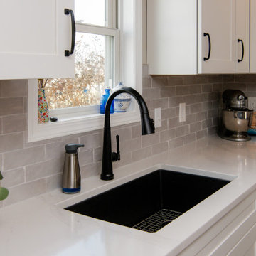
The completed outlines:
[[[0,79],[58,78],[74,75],[71,45],[73,0],[0,2]]]

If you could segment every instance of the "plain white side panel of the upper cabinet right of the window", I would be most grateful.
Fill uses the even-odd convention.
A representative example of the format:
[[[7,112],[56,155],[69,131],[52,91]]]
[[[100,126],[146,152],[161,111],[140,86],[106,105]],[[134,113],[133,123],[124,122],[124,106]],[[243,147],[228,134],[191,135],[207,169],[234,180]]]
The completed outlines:
[[[147,1],[149,74],[197,73],[196,0]]]

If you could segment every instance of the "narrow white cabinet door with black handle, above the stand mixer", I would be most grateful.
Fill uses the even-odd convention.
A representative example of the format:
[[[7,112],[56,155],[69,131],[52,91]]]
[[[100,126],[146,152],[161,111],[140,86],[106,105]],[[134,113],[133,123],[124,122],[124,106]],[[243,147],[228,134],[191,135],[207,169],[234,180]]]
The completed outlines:
[[[249,72],[250,62],[250,0],[236,0],[236,68],[237,73]]]

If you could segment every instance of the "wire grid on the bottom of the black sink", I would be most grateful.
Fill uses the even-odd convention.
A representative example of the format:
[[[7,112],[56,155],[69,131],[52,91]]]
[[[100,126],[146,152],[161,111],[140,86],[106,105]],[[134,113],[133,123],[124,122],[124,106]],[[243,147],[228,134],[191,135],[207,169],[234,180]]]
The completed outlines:
[[[154,215],[151,215],[149,218],[142,220],[137,225],[134,225],[132,228],[154,233],[161,228],[164,228],[165,225],[178,218],[181,214],[183,213],[175,210],[162,209]]]

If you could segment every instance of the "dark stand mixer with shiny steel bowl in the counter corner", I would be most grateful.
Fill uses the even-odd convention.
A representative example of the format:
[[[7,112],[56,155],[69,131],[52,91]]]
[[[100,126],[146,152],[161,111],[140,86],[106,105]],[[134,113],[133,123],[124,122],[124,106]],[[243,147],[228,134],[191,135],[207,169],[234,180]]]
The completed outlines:
[[[218,135],[235,142],[251,139],[247,130],[251,127],[253,110],[245,107],[247,97],[240,90],[223,92],[224,107],[221,112],[221,124]]]

